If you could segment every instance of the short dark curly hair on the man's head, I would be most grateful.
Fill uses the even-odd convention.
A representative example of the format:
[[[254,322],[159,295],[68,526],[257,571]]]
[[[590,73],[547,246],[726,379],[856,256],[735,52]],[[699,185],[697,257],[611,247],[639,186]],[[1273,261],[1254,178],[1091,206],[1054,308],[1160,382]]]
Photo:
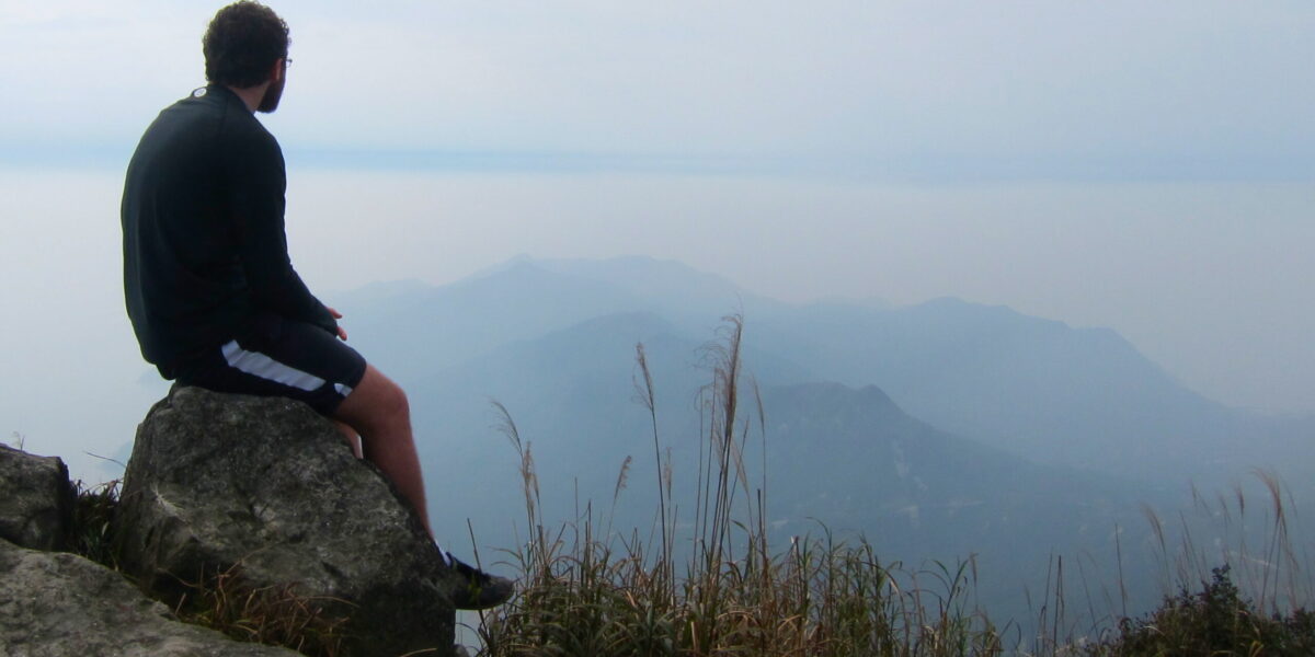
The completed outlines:
[[[288,57],[288,24],[274,9],[241,0],[214,14],[201,38],[205,79],[245,89],[270,79],[270,67]]]

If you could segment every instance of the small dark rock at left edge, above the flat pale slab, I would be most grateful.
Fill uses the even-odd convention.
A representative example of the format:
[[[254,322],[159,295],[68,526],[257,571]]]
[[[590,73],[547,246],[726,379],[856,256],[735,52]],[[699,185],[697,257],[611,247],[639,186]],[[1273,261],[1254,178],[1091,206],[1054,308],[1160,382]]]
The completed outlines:
[[[33,549],[63,549],[72,512],[74,487],[64,461],[0,445],[0,539]]]

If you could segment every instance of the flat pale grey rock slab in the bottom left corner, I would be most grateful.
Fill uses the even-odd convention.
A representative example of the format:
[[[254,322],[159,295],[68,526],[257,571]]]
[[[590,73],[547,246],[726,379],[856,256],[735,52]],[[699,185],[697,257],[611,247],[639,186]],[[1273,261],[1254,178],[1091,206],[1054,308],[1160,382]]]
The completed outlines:
[[[172,620],[118,573],[68,553],[0,540],[0,654],[5,657],[295,657]]]

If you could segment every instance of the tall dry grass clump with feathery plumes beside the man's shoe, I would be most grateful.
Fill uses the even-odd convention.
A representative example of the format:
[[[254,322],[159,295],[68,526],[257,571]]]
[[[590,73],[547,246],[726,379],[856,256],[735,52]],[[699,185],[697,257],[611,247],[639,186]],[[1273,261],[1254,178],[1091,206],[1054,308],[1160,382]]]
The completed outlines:
[[[705,348],[711,382],[704,410],[697,502],[690,536],[677,539],[671,463],[654,413],[654,381],[636,348],[636,398],[648,409],[658,459],[656,548],[633,532],[611,535],[592,509],[548,531],[529,443],[505,407],[502,431],[521,457],[529,543],[510,553],[523,589],[480,628],[487,656],[994,656],[989,620],[967,607],[970,562],[910,573],[881,564],[867,541],[767,541],[764,489],[751,489],[744,453],[761,436],[756,386],[742,381],[743,322],[730,317]],[[752,390],[743,413],[742,390]],[[618,477],[619,494],[626,466]],[[602,535],[596,527],[602,526]],[[690,556],[677,577],[676,541]],[[652,552],[652,557],[650,556]],[[932,582],[922,587],[920,582]]]

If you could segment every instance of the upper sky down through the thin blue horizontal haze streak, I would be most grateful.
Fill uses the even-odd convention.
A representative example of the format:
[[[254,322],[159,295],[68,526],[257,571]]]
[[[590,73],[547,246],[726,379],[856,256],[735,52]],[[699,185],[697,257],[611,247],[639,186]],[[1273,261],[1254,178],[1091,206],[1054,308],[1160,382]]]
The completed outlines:
[[[218,3],[0,7],[0,146],[21,160],[130,148],[203,83]],[[296,63],[268,125],[308,163],[402,150],[894,179],[1315,173],[1306,0],[272,7]]]

